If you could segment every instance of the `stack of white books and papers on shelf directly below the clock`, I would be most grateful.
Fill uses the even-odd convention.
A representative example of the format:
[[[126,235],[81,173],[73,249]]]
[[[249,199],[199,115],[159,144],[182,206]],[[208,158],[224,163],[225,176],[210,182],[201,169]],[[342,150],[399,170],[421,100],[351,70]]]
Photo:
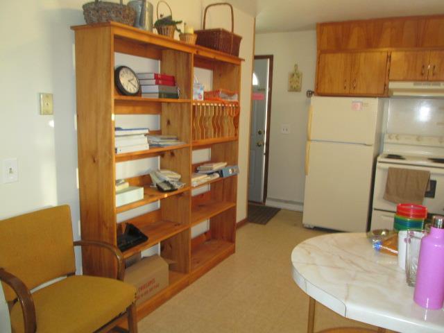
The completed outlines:
[[[149,149],[148,128],[114,128],[114,147],[117,154]]]

